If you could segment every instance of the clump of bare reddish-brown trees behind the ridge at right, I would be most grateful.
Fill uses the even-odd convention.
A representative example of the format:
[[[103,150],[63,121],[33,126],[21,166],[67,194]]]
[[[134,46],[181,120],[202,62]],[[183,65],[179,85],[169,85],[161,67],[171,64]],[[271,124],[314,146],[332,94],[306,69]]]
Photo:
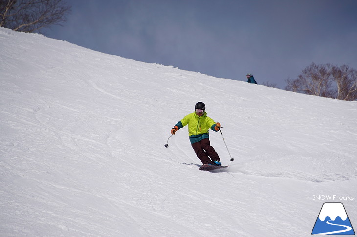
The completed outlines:
[[[288,91],[349,101],[357,99],[357,71],[347,65],[312,63],[297,79],[286,82]]]

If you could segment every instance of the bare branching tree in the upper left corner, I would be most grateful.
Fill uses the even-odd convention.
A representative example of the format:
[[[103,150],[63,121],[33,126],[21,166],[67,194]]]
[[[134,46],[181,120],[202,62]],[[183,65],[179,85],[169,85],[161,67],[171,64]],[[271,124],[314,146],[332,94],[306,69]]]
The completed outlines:
[[[0,27],[36,32],[61,25],[70,8],[63,0],[0,0]]]

